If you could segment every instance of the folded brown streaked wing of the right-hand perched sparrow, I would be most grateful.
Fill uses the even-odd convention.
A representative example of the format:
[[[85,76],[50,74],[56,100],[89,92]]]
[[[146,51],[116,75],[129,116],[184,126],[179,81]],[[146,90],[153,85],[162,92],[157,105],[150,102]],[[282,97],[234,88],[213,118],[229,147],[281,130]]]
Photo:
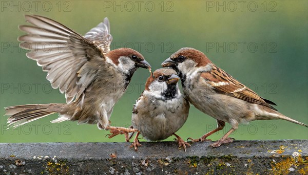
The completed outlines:
[[[240,83],[238,80],[215,65],[210,72],[201,73],[201,77],[204,78],[205,81],[209,83],[218,93],[233,96],[247,102],[264,105],[276,110],[273,106],[269,105],[276,105],[274,102],[263,99],[253,90],[247,88],[244,84]]]

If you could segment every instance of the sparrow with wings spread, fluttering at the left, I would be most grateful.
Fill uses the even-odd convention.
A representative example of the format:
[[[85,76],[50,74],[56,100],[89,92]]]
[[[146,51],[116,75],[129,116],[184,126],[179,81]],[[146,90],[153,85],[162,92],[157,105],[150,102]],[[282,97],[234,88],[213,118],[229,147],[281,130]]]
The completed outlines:
[[[70,120],[97,124],[99,129],[111,133],[136,131],[110,126],[109,118],[133,73],[138,68],[150,70],[151,66],[133,49],[110,51],[112,36],[108,18],[85,36],[44,16],[25,15],[25,18],[32,25],[19,26],[27,32],[18,37],[20,47],[30,50],[27,57],[48,72],[52,88],[65,93],[66,103],[6,107],[5,115],[10,116],[8,126],[17,127],[58,113],[59,118],[52,123]]]

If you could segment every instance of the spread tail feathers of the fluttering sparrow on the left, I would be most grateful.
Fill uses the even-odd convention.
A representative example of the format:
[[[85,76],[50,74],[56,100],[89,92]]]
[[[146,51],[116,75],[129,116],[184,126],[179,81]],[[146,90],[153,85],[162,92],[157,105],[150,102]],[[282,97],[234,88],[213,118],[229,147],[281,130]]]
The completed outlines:
[[[31,121],[46,117],[50,114],[59,113],[63,104],[26,104],[6,107],[8,126],[18,127]]]

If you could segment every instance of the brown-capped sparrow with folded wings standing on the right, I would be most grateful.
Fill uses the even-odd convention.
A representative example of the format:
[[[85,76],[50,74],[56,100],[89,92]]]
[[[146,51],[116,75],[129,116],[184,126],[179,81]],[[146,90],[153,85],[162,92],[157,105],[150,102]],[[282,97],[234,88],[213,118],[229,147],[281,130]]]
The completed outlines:
[[[225,122],[232,128],[217,142],[232,142],[228,136],[234,132],[239,123],[253,120],[283,119],[302,126],[306,124],[279,113],[272,105],[274,102],[260,97],[244,84],[218,68],[204,53],[193,48],[182,48],[172,54],[162,67],[171,67],[181,78],[184,96],[201,112],[217,120],[217,128],[192,142],[205,141],[206,138],[223,129]]]

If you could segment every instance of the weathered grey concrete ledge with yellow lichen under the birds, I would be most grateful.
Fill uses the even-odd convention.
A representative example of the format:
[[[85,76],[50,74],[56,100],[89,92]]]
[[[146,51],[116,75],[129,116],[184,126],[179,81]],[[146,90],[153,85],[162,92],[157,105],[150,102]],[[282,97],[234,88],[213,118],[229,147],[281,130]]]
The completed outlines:
[[[0,174],[308,173],[308,140],[210,143],[187,152],[176,142],[143,142],[138,152],[130,143],[1,143]]]

